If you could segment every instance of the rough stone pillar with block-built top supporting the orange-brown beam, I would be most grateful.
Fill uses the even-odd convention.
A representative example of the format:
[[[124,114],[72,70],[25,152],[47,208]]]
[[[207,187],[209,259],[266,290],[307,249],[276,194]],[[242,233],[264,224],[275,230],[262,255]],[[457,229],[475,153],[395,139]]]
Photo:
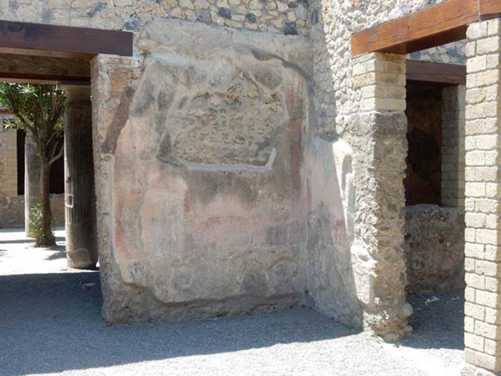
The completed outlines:
[[[356,59],[359,109],[350,116],[356,150],[355,240],[352,262],[366,328],[394,341],[411,328],[407,317],[403,210],[407,118],[405,55]]]

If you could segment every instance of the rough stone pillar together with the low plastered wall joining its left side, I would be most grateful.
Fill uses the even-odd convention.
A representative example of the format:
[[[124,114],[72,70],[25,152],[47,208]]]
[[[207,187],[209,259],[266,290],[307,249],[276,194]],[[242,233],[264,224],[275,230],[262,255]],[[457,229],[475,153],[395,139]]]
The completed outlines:
[[[405,56],[368,54],[353,62],[351,85],[359,98],[358,112],[336,118],[333,143],[322,140],[326,137],[323,129],[322,138],[312,129],[307,146],[312,171],[309,216],[316,218],[326,206],[324,218],[333,231],[330,244],[322,241],[318,251],[309,247],[309,292],[319,309],[351,324],[358,317],[359,325],[363,322],[386,339],[395,340],[409,330],[406,318],[412,312],[405,302],[402,250],[402,179],[407,151]],[[333,197],[328,199],[327,195]],[[338,195],[346,200],[341,213],[335,203]],[[309,220],[309,243],[319,229],[317,222]],[[325,262],[323,254],[333,261]],[[340,281],[332,275],[340,275]],[[330,296],[323,286],[328,286]],[[343,311],[352,318],[341,315]]]

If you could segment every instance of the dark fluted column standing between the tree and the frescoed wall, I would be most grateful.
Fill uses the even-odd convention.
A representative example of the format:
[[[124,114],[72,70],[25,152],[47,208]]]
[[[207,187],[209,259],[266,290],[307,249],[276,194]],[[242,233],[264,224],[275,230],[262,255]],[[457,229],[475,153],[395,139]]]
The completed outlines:
[[[98,261],[90,87],[63,85],[65,112],[65,219],[68,266],[93,268]]]

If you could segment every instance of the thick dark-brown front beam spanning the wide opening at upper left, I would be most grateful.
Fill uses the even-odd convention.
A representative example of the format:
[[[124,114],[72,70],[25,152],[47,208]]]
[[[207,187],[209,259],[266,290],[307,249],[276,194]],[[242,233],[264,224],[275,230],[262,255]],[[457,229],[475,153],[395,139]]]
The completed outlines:
[[[97,54],[132,56],[133,34],[0,21],[0,51],[30,55],[89,58]]]

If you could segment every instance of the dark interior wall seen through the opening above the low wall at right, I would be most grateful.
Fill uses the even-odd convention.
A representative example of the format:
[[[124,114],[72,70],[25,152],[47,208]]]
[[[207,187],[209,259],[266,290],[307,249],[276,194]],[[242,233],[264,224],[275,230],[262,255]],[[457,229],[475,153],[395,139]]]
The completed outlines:
[[[407,153],[405,204],[440,205],[441,87],[407,83]]]

